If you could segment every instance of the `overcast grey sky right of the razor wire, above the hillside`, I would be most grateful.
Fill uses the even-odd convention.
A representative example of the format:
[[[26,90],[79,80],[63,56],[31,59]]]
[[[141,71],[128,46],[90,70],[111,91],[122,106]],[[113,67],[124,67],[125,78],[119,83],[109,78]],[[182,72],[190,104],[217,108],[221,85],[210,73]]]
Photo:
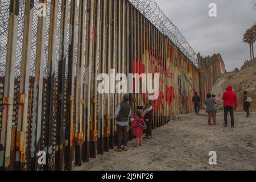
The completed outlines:
[[[227,71],[241,68],[245,60],[250,60],[249,45],[242,43],[242,35],[256,22],[256,10],[251,3],[256,0],[155,1],[196,53],[221,53]],[[216,3],[217,17],[210,18],[209,3]]]

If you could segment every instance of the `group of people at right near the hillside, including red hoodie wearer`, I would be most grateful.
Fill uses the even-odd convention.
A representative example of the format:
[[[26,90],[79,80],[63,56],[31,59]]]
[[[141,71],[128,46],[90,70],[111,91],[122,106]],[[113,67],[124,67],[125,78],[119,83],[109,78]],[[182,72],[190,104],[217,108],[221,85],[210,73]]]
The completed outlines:
[[[216,96],[212,95],[210,93],[207,94],[207,98],[205,100],[206,112],[208,113],[208,125],[217,125],[217,119],[216,119]],[[230,114],[231,118],[231,127],[234,127],[234,111],[237,110],[237,94],[233,92],[233,87],[228,86],[226,88],[226,92],[222,96],[222,100],[224,101],[224,127],[228,127],[228,113]],[[192,101],[195,105],[195,111],[196,115],[199,115],[200,106],[201,106],[201,98],[198,95],[198,93],[195,93],[195,96],[193,96]],[[250,117],[250,105],[251,105],[251,97],[247,94],[247,92],[243,92],[242,97],[242,104],[243,104],[243,110],[246,112],[246,117]]]

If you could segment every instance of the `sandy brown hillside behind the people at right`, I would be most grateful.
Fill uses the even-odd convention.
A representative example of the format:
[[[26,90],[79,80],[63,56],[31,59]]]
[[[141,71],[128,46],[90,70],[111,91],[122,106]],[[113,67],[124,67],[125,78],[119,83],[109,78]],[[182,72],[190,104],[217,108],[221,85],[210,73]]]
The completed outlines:
[[[212,93],[217,93],[216,95],[218,96],[218,109],[223,109],[221,97],[225,92],[226,86],[232,85],[238,97],[238,111],[243,110],[241,101],[243,91],[249,92],[250,97],[253,99],[250,110],[256,110],[256,64],[242,68],[243,69],[237,73],[223,74],[213,86]]]

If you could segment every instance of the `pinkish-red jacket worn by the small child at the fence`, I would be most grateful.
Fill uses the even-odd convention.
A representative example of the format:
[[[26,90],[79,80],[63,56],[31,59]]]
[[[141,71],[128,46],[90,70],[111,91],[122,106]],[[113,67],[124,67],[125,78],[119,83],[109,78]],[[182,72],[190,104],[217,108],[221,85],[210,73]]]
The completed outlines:
[[[133,127],[134,137],[141,138],[143,135],[143,130],[146,129],[146,123],[144,119],[133,117],[131,118],[131,126]]]

